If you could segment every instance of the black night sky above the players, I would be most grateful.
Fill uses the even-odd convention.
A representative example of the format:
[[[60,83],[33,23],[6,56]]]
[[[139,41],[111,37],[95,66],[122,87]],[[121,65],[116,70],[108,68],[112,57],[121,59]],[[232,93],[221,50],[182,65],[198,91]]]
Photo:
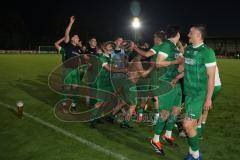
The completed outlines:
[[[131,0],[9,1],[0,8],[0,49],[34,49],[52,45],[64,35],[69,16],[76,16],[73,31],[86,41],[121,35],[133,38]],[[182,35],[192,24],[206,24],[209,37],[240,37],[240,11],[236,1],[138,0],[142,39],[155,31],[179,25]]]

